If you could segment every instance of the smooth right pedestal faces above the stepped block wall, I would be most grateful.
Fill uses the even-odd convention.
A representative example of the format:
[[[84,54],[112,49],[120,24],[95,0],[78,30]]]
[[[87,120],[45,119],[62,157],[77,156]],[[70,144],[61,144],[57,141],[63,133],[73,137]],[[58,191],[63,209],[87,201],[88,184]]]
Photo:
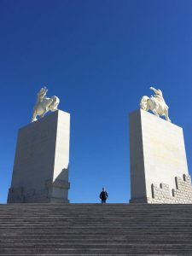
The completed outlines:
[[[130,116],[131,199],[151,197],[152,183],[176,189],[189,174],[183,129],[142,109]]]

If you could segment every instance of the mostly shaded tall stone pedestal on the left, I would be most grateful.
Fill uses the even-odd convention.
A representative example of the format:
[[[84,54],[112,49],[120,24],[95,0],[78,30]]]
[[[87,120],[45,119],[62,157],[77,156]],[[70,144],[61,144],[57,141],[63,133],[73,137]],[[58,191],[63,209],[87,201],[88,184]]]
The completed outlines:
[[[69,133],[61,110],[20,128],[8,203],[68,202]]]

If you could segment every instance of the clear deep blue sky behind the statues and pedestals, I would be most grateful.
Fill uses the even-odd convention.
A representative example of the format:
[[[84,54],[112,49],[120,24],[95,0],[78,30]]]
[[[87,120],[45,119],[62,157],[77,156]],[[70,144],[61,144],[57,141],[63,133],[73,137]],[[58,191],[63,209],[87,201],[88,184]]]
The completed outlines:
[[[38,90],[71,113],[71,202],[130,199],[128,113],[160,88],[192,172],[192,1],[0,0],[0,202]]]

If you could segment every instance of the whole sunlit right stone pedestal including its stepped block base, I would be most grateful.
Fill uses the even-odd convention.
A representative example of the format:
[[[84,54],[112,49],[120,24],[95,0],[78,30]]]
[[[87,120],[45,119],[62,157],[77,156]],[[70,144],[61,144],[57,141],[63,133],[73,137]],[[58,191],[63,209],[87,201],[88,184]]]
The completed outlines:
[[[130,115],[131,202],[192,203],[183,129],[142,109]]]

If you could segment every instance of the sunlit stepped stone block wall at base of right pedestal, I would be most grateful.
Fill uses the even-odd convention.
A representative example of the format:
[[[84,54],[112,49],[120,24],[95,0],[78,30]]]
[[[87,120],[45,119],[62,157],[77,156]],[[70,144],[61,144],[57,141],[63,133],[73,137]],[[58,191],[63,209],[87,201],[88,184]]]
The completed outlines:
[[[192,204],[192,184],[191,177],[183,174],[175,177],[176,188],[170,191],[169,185],[160,183],[160,186],[152,183],[152,198],[147,198],[148,203],[157,204]]]

